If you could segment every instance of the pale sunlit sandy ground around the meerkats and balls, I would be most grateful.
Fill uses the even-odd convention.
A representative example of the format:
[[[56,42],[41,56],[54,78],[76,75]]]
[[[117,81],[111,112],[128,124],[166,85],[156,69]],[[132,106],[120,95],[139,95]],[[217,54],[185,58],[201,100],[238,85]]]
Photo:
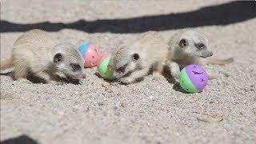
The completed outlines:
[[[221,3],[225,2],[3,0],[1,19],[94,21],[177,14]],[[86,70],[82,85],[26,84],[1,76],[1,141],[26,135],[35,143],[255,143],[256,18],[193,29],[206,34],[215,57],[234,58],[232,64],[213,66],[218,78],[202,93],[184,94],[151,75],[128,86],[114,82],[105,90],[95,69]],[[174,30],[160,33],[167,40]],[[10,57],[21,34],[1,33],[1,60]],[[118,42],[132,42],[139,33],[61,29],[50,34],[77,46],[94,42],[104,54]]]

